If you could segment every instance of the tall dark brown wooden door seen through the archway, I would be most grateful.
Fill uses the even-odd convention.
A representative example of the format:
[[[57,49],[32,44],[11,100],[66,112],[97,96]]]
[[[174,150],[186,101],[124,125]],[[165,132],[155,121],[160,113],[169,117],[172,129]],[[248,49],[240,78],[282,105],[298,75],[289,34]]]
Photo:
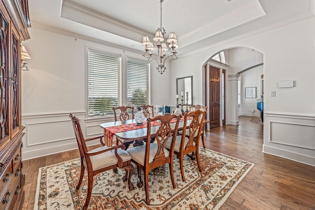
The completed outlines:
[[[210,129],[220,126],[220,69],[209,66]]]

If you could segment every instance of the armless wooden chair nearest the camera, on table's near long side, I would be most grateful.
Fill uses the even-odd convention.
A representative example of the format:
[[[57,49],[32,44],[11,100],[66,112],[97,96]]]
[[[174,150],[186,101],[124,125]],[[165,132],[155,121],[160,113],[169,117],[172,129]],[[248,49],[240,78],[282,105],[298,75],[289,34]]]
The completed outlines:
[[[174,122],[174,130],[171,127],[171,120],[176,119]],[[145,145],[129,148],[127,152],[131,155],[131,161],[137,165],[138,171],[138,182],[137,186],[141,188],[143,186],[143,181],[141,180],[141,169],[144,174],[144,188],[146,194],[146,202],[150,203],[149,198],[149,171],[159,166],[169,164],[170,177],[172,181],[173,188],[176,188],[176,183],[173,174],[173,148],[175,143],[176,135],[172,135],[172,132],[177,133],[178,123],[180,116],[174,114],[165,114],[164,116],[158,115],[153,118],[148,118],[148,129],[147,129],[147,141]],[[151,122],[160,121],[156,132],[156,141],[154,143],[150,142],[151,139]],[[173,124],[173,125],[174,125]],[[172,125],[172,126],[173,126]],[[170,141],[169,150],[164,148],[166,142]]]

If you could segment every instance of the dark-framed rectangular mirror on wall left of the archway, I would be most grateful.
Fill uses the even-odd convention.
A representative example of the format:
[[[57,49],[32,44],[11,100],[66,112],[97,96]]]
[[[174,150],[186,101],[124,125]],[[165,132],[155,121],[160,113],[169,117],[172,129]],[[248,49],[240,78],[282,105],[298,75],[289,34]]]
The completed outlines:
[[[178,95],[178,104],[182,104],[182,97],[183,94],[183,104],[186,104],[188,99],[188,105],[192,105],[192,76],[189,77],[182,77],[176,79],[177,85],[177,95]],[[187,97],[188,94],[188,97]]]

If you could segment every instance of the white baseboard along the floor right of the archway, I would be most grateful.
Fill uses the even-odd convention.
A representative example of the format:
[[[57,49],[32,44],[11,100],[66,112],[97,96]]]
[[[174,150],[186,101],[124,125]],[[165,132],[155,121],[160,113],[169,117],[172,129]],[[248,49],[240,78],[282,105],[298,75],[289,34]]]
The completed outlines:
[[[270,146],[263,145],[263,153],[275,155],[278,157],[283,157],[285,159],[293,160],[299,163],[304,163],[310,166],[315,166],[315,157],[306,156],[301,153],[293,152],[293,151],[287,151],[282,150],[279,148],[274,148]]]

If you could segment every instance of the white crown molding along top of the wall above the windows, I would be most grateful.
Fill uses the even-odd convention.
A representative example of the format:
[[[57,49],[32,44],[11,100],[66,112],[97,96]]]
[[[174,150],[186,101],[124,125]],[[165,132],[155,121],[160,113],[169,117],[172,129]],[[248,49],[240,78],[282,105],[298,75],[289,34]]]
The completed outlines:
[[[58,34],[66,35],[66,36],[74,36],[76,38],[80,38],[80,39],[83,39],[83,40],[95,42],[95,43],[98,43],[98,44],[104,44],[104,45],[107,45],[107,46],[110,46],[110,47],[113,47],[113,48],[118,48],[118,49],[121,49],[121,50],[127,50],[127,51],[130,51],[130,52],[143,54],[143,52],[140,51],[140,50],[135,50],[133,48],[128,48],[128,47],[125,47],[125,46],[122,46],[122,45],[114,44],[112,42],[107,42],[107,41],[104,41],[104,40],[101,40],[101,39],[96,39],[96,38],[93,38],[91,36],[85,36],[85,35],[82,35],[82,34],[79,34],[79,33],[71,32],[71,31],[68,31],[68,30],[63,30],[63,29],[59,29],[59,28],[43,25],[43,24],[40,24],[40,23],[35,23],[35,22],[31,22],[31,24],[32,24],[32,28],[41,29],[41,30],[47,30],[47,31],[50,31],[50,32],[54,32],[54,33],[58,33]]]

